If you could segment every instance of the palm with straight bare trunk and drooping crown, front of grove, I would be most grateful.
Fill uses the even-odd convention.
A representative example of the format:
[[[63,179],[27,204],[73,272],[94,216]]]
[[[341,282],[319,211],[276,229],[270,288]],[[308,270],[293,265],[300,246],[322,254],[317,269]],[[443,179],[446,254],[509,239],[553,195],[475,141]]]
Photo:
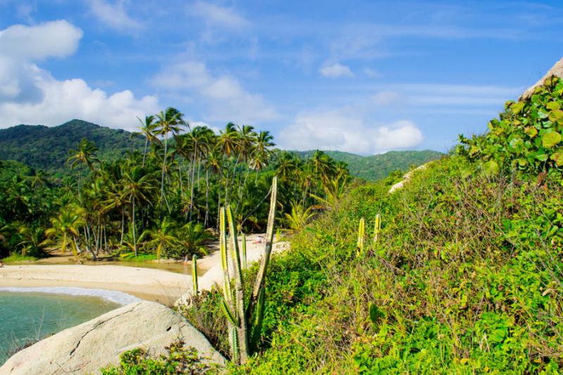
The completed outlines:
[[[121,180],[122,196],[131,207],[131,225],[133,227],[133,243],[135,257],[137,257],[137,238],[135,233],[135,204],[150,203],[148,193],[153,186],[153,175],[146,174],[143,167],[133,165],[123,173]]]

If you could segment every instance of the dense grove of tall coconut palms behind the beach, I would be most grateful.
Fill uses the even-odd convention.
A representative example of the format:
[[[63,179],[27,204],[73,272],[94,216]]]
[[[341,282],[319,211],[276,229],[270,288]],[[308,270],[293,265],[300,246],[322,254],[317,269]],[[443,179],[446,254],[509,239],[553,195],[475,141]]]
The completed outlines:
[[[174,108],[146,117],[141,133],[141,151],[113,160],[80,140],[66,151],[69,176],[62,180],[2,162],[0,257],[60,248],[94,260],[139,252],[186,258],[205,253],[220,205],[231,205],[242,231],[262,231],[275,174],[281,176],[279,215],[288,214],[284,224],[293,229],[301,224],[292,213],[313,204],[320,210],[349,179],[346,165],[322,152],[307,160],[274,154],[268,132],[230,123],[220,134],[191,128]]]

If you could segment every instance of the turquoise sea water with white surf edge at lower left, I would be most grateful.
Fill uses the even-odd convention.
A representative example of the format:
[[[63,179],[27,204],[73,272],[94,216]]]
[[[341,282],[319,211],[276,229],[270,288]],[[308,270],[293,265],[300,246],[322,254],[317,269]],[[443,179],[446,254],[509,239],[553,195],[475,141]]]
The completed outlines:
[[[101,298],[96,290],[68,288],[72,294],[0,289],[0,365],[15,348],[99,317],[122,305],[118,299]],[[84,295],[94,291],[94,295]],[[99,290],[98,290],[99,291]],[[102,291],[99,291],[102,292]],[[125,296],[123,303],[136,298]],[[130,298],[129,298],[130,297]],[[129,298],[129,300],[127,300]],[[13,353],[12,353],[13,354]]]

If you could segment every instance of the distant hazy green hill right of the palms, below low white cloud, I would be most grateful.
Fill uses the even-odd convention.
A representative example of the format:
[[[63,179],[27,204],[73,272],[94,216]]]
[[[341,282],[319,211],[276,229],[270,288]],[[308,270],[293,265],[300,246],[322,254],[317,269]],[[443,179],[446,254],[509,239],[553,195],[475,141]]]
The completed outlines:
[[[315,151],[297,151],[299,155],[309,158]],[[438,151],[389,151],[379,155],[361,156],[342,151],[324,151],[336,161],[348,164],[350,174],[367,180],[377,180],[387,177],[394,170],[407,170],[412,165],[422,165],[430,160],[443,156]]]

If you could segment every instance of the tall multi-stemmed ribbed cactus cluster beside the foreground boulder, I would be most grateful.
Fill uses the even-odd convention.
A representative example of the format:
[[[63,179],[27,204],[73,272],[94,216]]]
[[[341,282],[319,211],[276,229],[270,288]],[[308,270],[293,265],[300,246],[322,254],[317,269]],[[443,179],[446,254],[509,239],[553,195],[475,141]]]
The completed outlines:
[[[242,236],[242,256],[239,250],[239,242],[236,238],[236,226],[233,220],[232,210],[220,208],[220,251],[221,264],[223,268],[223,301],[222,309],[229,324],[229,343],[231,346],[231,357],[235,363],[245,363],[248,356],[258,346],[260,332],[262,331],[262,320],[264,318],[265,290],[264,281],[267,265],[272,253],[272,242],[274,237],[274,220],[276,216],[277,178],[272,182],[272,193],[270,196],[270,215],[268,217],[266,243],[264,255],[258,269],[253,292],[248,298],[245,306],[245,293],[243,284],[243,267],[246,267],[246,237]],[[227,246],[227,223],[229,227],[229,245]],[[228,251],[227,251],[228,248]],[[231,267],[229,267],[231,265]],[[234,291],[231,287],[233,273]]]

